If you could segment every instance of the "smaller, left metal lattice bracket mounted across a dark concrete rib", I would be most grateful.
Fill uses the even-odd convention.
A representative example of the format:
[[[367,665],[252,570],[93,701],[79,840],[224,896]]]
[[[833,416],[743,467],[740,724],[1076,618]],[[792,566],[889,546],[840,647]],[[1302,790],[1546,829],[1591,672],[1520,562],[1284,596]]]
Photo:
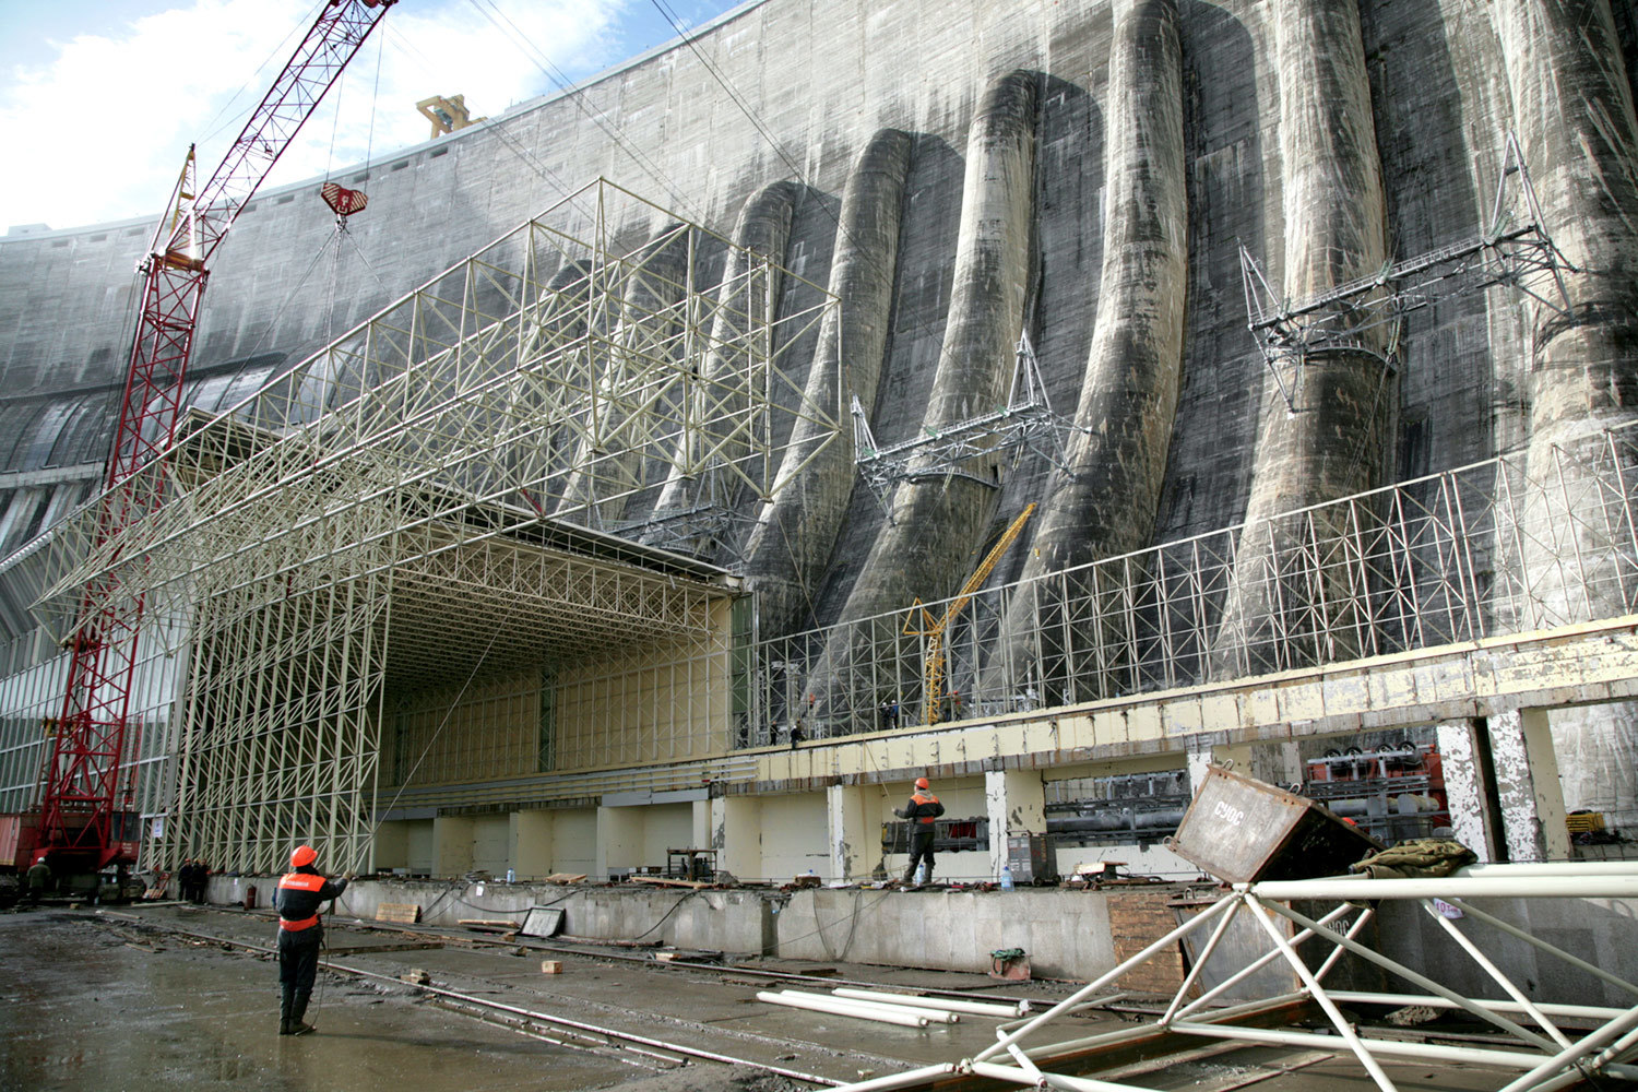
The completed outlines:
[[[870,417],[857,395],[852,414],[853,462],[889,519],[893,512],[888,493],[899,481],[958,475],[993,488],[994,481],[989,476],[973,475],[963,468],[970,460],[994,457],[998,452],[1014,452],[1014,457],[1035,452],[1055,467],[1070,470],[1065,437],[1079,427],[1053,411],[1027,331],[1019,336],[1012,390],[1007,393],[1007,404],[1001,409],[947,429],[927,429],[924,435],[888,447],[876,444],[876,437],[870,431]],[[1089,429],[1079,431],[1088,432]]]

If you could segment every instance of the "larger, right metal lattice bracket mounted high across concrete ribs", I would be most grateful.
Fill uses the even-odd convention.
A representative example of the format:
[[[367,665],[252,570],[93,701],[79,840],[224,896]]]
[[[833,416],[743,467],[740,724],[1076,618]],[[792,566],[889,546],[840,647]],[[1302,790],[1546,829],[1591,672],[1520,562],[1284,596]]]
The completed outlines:
[[[1338,349],[1379,355],[1368,344],[1374,336],[1387,342],[1384,365],[1392,367],[1400,323],[1407,314],[1499,285],[1568,314],[1571,305],[1564,273],[1574,272],[1579,270],[1546,231],[1530,170],[1512,133],[1504,141],[1489,223],[1471,239],[1389,262],[1369,277],[1302,301],[1284,300],[1274,291],[1258,260],[1240,247],[1247,329],[1292,413],[1304,408],[1305,360]]]

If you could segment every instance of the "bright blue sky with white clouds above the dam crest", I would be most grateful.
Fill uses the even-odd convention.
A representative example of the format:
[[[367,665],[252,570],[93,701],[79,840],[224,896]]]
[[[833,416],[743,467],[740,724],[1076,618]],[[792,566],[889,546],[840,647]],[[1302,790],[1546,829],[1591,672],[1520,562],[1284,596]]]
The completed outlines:
[[[559,90],[740,0],[400,0],[264,185],[419,144],[416,102],[473,118]],[[157,218],[190,142],[216,169],[323,0],[0,0],[0,234]]]

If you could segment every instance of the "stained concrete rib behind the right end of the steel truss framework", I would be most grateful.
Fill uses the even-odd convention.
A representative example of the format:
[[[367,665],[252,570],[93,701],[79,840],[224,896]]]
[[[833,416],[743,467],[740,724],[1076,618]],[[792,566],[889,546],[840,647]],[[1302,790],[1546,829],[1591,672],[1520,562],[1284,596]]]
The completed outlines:
[[[796,183],[775,182],[750,195],[734,223],[734,246],[722,270],[722,287],[717,290],[717,313],[711,319],[711,350],[706,355],[704,373],[691,399],[688,413],[695,417],[693,429],[680,439],[693,450],[678,450],[660,498],[654,506],[655,517],[683,516],[685,524],[673,534],[650,532],[647,542],[698,552],[706,548],[709,534],[690,534],[686,512],[704,506],[731,504],[739,493],[742,478],[724,472],[745,458],[744,439],[727,437],[717,444],[717,429],[727,432],[745,424],[750,409],[750,381],[747,363],[752,347],[747,337],[757,324],[767,321],[780,308],[785,288],[780,267],[785,247],[791,237],[791,214],[796,210]],[[757,265],[771,262],[758,272]],[[771,349],[771,345],[768,347]],[[714,426],[713,422],[721,422]],[[704,449],[721,447],[711,453]],[[685,472],[683,468],[688,468]],[[691,473],[690,473],[691,472]]]

